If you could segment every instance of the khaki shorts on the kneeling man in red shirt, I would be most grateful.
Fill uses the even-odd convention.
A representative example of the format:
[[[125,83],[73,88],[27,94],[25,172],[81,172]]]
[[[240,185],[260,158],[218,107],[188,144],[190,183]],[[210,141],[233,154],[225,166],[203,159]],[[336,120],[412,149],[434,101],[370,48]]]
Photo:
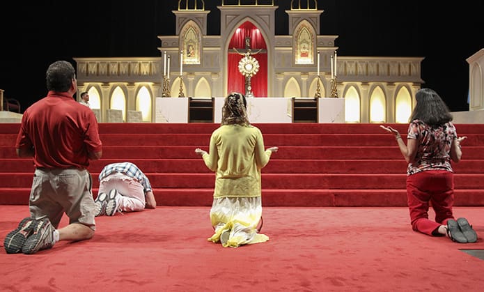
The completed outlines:
[[[92,181],[86,169],[36,169],[29,199],[31,217],[47,217],[57,229],[65,213],[69,224],[95,230]]]

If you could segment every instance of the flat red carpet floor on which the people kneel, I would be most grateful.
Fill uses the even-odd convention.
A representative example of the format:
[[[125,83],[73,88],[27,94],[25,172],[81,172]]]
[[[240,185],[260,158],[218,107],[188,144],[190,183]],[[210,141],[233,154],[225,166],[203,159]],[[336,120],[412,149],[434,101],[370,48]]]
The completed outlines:
[[[412,231],[407,208],[263,210],[266,243],[208,242],[208,207],[97,217],[91,240],[33,255],[0,250],[1,291],[482,291],[484,207],[458,207],[478,242]],[[0,238],[28,215],[0,206]],[[432,214],[431,214],[432,216]],[[64,217],[61,225],[67,224]],[[482,250],[481,250],[482,252]]]

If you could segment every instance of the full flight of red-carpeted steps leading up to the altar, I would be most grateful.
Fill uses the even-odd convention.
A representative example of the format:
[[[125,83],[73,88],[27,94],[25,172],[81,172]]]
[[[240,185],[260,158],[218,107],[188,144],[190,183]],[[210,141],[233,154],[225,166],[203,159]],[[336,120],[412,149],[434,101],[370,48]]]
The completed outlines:
[[[101,123],[102,160],[130,161],[150,178],[159,206],[210,206],[214,174],[194,153],[208,149],[214,123]],[[264,206],[407,206],[406,164],[395,139],[377,124],[259,124],[265,146],[279,146],[263,169]],[[393,127],[405,133],[407,125]],[[455,205],[484,206],[484,125],[456,125],[462,162],[454,164]],[[15,155],[19,124],[0,124],[0,205],[26,205],[31,159]],[[403,135],[405,137],[405,135]]]

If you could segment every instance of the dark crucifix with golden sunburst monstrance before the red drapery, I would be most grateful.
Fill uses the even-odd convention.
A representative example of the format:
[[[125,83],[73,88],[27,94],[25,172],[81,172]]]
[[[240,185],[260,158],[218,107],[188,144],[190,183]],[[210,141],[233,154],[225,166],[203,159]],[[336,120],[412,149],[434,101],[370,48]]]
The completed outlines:
[[[256,49],[256,52],[252,52],[251,49],[251,38],[249,36],[245,37],[245,48],[244,49],[229,49],[228,52],[235,52],[242,55],[242,59],[239,61],[239,72],[245,77],[245,96],[248,98],[253,98],[251,78],[256,75],[259,70],[259,62],[253,55],[260,52],[267,52],[265,49]]]

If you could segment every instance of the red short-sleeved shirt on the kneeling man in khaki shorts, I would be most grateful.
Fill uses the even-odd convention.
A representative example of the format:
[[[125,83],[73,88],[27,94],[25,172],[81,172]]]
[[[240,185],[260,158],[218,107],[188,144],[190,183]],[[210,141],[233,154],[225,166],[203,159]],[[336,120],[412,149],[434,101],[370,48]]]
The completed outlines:
[[[93,111],[67,93],[49,91],[22,116],[15,147],[32,146],[36,167],[87,168],[88,151],[102,151]]]

